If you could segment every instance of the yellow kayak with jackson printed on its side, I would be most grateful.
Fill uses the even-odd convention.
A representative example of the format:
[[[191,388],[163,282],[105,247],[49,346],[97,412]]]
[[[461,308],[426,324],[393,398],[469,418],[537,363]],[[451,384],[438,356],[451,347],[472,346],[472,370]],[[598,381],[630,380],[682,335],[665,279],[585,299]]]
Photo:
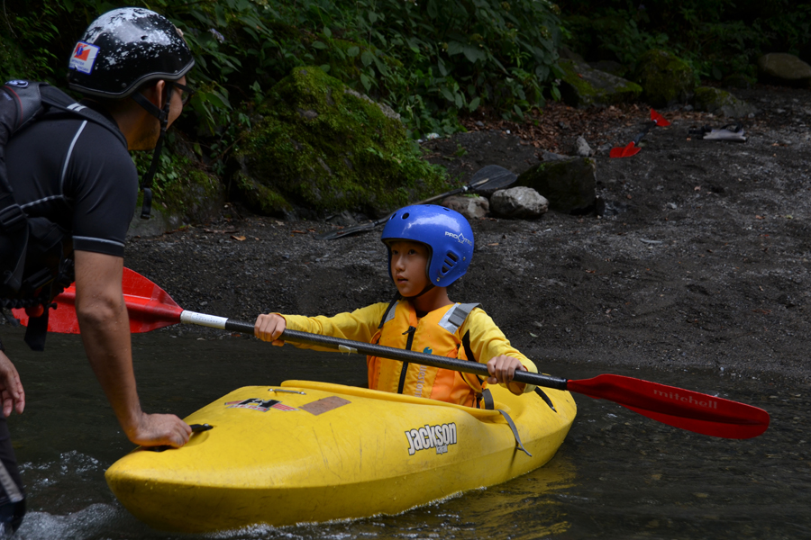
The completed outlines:
[[[555,454],[577,412],[570,393],[545,390],[552,410],[534,393],[491,390],[497,410],[340,384],[247,386],[189,416],[213,428],[186,446],[138,448],[105,477],[136,518],[169,531],[397,514]]]

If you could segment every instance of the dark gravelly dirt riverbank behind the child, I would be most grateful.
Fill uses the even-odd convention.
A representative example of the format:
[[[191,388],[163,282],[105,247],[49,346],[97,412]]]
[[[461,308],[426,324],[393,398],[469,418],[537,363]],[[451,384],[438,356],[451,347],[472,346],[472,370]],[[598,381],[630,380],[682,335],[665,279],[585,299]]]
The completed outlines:
[[[468,133],[425,143],[461,181],[490,164],[521,173],[544,150],[568,153],[579,135],[599,148],[606,215],[472,223],[475,257],[451,299],[481,302],[550,374],[599,362],[811,382],[811,91],[736,94],[760,110],[743,144],[691,139],[690,127],[726,121],[674,108],[661,111],[672,125],[652,130],[638,155],[610,159],[648,119],[642,103],[552,104],[522,125],[471,118]],[[330,229],[230,206],[212,223],[133,238],[125,263],[187,310],[242,320],[390,300],[379,229],[314,238]]]

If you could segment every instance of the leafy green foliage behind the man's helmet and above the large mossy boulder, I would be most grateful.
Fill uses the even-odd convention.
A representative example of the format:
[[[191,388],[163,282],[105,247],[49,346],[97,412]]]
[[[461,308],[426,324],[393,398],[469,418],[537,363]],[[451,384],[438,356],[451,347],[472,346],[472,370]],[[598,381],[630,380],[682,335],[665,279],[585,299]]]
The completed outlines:
[[[415,138],[460,130],[457,115],[483,106],[522,115],[543,103],[560,35],[549,0],[6,0],[0,33],[23,36],[33,66],[20,75],[59,82],[87,23],[123,5],[184,31],[197,60],[196,129],[207,136],[312,65],[400,112]]]

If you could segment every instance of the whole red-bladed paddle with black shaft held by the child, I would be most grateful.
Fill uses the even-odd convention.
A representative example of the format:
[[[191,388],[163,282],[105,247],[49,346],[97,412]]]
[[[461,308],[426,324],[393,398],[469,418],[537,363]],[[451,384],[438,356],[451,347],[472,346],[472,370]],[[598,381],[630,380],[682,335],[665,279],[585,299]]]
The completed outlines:
[[[133,333],[148,332],[178,322],[185,322],[253,335],[253,323],[251,322],[183,310],[158,285],[128,268],[124,268],[122,284],[124,301],[130,314],[130,329]],[[69,287],[56,298],[58,309],[50,316],[49,331],[78,333],[76,311],[74,310],[75,298],[76,289],[74,287]],[[24,310],[14,310],[14,316],[23,320],[23,324],[27,323]],[[488,376],[487,366],[477,362],[426,355],[415,351],[295,330],[285,330],[280,338],[285,341],[329,347],[343,352],[381,356],[414,364]],[[516,372],[515,381],[578,392],[598,400],[614,401],[642,416],[669,426],[713,437],[757,437],[769,427],[769,413],[751,405],[621,375],[603,374],[592,379],[568,381],[549,375]]]

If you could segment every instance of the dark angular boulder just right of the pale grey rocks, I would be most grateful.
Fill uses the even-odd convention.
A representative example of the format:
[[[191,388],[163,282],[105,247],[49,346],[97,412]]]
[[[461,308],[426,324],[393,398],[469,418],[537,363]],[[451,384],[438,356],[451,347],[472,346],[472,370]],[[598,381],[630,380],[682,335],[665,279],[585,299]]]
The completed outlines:
[[[580,212],[594,208],[597,167],[590,157],[543,162],[518,176],[517,185],[541,193],[554,211]],[[491,202],[492,203],[492,202]]]

